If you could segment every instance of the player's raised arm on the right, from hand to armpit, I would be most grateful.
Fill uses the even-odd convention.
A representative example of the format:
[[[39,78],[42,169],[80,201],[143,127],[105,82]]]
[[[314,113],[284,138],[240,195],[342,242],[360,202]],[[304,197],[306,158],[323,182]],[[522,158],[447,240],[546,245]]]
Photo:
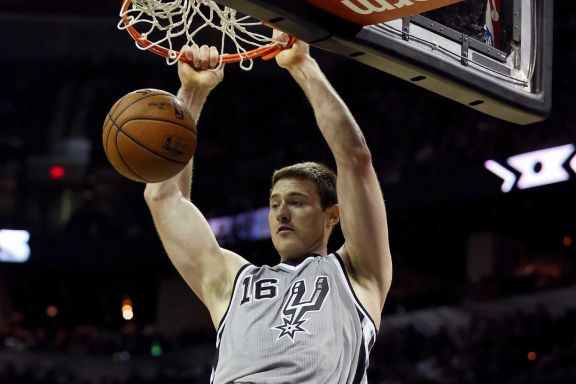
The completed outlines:
[[[370,150],[348,107],[309,56],[305,43],[296,43],[277,60],[306,93],[334,155],[345,239],[341,256],[356,294],[378,320],[392,280],[392,259],[384,199]]]

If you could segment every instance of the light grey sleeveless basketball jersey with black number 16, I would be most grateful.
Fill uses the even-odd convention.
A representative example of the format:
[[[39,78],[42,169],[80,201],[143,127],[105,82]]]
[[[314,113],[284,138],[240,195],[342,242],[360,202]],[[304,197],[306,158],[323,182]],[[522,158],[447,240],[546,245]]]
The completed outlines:
[[[340,256],[242,267],[218,327],[214,384],[367,383],[374,322]]]

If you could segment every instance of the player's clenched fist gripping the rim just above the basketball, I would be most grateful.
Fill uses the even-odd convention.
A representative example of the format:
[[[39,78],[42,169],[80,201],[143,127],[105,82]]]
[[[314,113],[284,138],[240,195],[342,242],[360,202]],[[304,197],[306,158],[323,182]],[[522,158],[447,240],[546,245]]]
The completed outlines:
[[[203,45],[182,48],[192,64],[178,62],[178,76],[185,89],[211,91],[224,78],[224,65],[218,67],[219,55],[216,47]]]

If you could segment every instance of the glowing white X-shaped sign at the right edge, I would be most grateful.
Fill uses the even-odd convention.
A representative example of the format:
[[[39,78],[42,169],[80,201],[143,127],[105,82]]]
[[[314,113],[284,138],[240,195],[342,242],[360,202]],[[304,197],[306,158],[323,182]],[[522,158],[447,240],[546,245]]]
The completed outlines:
[[[508,193],[515,185],[518,189],[528,189],[569,180],[570,173],[564,164],[575,155],[575,151],[573,144],[560,145],[511,156],[506,160],[508,167],[495,160],[487,160],[484,167],[502,179],[500,189]],[[569,166],[576,173],[576,155]]]

